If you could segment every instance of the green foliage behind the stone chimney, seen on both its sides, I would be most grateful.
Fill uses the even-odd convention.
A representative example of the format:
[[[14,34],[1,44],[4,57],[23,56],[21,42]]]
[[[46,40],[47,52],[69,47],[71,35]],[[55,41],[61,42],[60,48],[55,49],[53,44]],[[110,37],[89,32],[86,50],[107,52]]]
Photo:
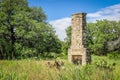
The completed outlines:
[[[98,20],[95,23],[87,23],[86,43],[90,52],[97,55],[106,55],[111,51],[120,50],[120,21]],[[67,38],[65,44],[70,44],[71,27],[66,29]],[[70,45],[66,46],[68,49]]]

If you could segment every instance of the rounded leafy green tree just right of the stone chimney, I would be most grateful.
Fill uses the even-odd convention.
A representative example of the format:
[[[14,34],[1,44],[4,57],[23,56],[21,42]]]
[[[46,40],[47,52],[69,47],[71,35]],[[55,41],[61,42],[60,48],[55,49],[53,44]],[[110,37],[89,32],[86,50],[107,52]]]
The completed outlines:
[[[120,36],[119,24],[116,21],[100,20],[87,25],[87,43],[92,53],[106,55],[109,52],[108,42]],[[114,49],[113,49],[114,50]]]

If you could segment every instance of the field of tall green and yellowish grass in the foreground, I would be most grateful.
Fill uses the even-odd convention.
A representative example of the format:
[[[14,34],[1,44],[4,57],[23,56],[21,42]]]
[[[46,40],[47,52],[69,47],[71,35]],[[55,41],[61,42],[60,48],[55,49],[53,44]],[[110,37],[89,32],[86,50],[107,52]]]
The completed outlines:
[[[120,80],[120,60],[92,56],[86,66],[62,61],[64,66],[57,69],[46,60],[1,60],[0,80]]]

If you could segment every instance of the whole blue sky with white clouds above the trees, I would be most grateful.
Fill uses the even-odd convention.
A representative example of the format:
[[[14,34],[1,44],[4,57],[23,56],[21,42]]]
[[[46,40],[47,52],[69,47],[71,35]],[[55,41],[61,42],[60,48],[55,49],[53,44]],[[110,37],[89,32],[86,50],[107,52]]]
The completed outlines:
[[[87,13],[87,22],[96,20],[120,20],[120,0],[28,0],[29,6],[42,7],[61,40],[66,37],[65,29],[71,25],[71,15]]]

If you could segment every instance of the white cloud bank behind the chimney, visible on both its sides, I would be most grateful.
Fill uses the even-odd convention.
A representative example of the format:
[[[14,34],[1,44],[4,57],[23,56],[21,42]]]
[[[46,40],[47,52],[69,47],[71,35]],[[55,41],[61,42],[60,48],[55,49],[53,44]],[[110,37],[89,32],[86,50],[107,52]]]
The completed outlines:
[[[120,4],[103,8],[95,13],[87,14],[87,22],[95,22],[96,20],[102,19],[119,21]],[[50,21],[49,23],[55,28],[58,37],[61,40],[64,40],[64,38],[66,37],[65,29],[71,25],[71,18],[65,17],[58,20]]]

